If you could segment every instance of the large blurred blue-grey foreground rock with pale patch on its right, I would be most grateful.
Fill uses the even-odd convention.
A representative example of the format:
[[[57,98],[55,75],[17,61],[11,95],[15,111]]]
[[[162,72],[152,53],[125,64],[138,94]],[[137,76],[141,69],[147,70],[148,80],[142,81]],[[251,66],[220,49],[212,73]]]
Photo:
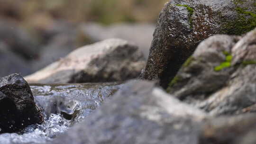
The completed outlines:
[[[207,115],[154,85],[128,82],[50,144],[198,144],[199,123]]]

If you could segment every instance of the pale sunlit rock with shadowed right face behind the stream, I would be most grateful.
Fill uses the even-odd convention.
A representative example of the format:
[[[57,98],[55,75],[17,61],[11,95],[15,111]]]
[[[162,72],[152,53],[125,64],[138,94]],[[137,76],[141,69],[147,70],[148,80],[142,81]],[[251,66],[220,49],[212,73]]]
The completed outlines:
[[[136,45],[109,39],[81,47],[25,79],[36,83],[125,81],[136,78],[144,65]]]

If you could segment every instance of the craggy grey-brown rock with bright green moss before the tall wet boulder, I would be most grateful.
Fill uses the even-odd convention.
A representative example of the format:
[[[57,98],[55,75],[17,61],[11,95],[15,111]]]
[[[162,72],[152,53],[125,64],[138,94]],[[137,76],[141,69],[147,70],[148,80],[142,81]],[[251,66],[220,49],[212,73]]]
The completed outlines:
[[[212,36],[183,64],[167,90],[211,115],[255,112],[255,72],[256,29],[242,38]]]

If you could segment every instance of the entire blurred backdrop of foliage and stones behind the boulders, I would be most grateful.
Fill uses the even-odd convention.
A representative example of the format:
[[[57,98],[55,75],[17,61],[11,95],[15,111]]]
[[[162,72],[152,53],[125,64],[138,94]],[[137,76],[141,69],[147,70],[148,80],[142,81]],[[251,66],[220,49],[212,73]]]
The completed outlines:
[[[168,0],[0,0],[0,76],[25,76],[74,49],[122,38],[148,56]]]

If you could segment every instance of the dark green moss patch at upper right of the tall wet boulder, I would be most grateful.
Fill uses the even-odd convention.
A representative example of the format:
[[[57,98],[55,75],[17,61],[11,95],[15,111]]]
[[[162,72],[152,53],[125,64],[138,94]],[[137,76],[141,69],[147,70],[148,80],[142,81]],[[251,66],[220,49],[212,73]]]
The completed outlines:
[[[234,0],[237,5],[235,9],[238,13],[238,18],[229,22],[225,22],[223,33],[231,35],[241,35],[253,30],[256,27],[256,10],[247,11],[247,8],[241,8],[238,5],[243,4],[242,0]],[[253,3],[256,7],[256,2]]]

